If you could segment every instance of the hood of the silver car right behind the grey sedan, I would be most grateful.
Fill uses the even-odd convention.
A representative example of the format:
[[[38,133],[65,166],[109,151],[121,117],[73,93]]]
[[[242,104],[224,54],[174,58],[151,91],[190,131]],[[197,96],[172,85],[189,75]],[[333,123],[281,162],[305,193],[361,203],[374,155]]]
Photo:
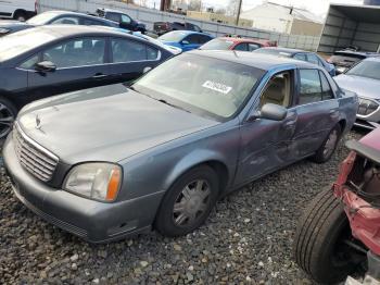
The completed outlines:
[[[358,97],[380,99],[380,80],[347,74],[335,76],[334,79],[341,88],[356,92]]]

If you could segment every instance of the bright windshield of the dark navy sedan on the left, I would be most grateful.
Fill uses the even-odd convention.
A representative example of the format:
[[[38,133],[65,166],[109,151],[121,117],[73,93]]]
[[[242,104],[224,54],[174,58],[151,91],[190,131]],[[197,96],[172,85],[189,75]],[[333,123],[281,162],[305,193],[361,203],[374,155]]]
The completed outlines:
[[[13,59],[53,39],[55,36],[51,33],[46,30],[30,32],[30,29],[2,37],[0,38],[0,61]]]

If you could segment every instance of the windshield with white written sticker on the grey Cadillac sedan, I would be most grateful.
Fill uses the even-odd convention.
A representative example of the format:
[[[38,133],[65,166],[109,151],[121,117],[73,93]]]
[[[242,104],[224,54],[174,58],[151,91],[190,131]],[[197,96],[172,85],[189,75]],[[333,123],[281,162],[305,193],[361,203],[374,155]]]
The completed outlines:
[[[152,70],[132,87],[186,111],[225,120],[243,107],[264,73],[229,61],[182,54]]]

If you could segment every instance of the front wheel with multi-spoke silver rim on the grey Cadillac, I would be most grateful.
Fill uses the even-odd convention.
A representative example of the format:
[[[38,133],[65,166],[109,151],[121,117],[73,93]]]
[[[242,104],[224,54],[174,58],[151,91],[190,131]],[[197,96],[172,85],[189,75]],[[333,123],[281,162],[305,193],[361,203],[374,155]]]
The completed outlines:
[[[201,185],[202,190],[198,190],[198,185]],[[168,237],[193,232],[204,223],[213,210],[218,197],[218,187],[217,175],[210,166],[197,166],[185,173],[164,196],[155,218],[155,230]],[[208,196],[204,197],[206,193]],[[175,210],[175,206],[178,211]]]

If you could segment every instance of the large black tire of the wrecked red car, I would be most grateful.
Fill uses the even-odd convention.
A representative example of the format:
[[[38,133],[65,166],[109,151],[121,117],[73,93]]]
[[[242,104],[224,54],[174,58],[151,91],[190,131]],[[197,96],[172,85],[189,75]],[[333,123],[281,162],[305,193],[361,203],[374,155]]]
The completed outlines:
[[[296,263],[318,283],[343,281],[358,265],[342,240],[352,238],[343,205],[331,189],[318,194],[303,213],[293,244]],[[355,261],[354,261],[355,260]]]

